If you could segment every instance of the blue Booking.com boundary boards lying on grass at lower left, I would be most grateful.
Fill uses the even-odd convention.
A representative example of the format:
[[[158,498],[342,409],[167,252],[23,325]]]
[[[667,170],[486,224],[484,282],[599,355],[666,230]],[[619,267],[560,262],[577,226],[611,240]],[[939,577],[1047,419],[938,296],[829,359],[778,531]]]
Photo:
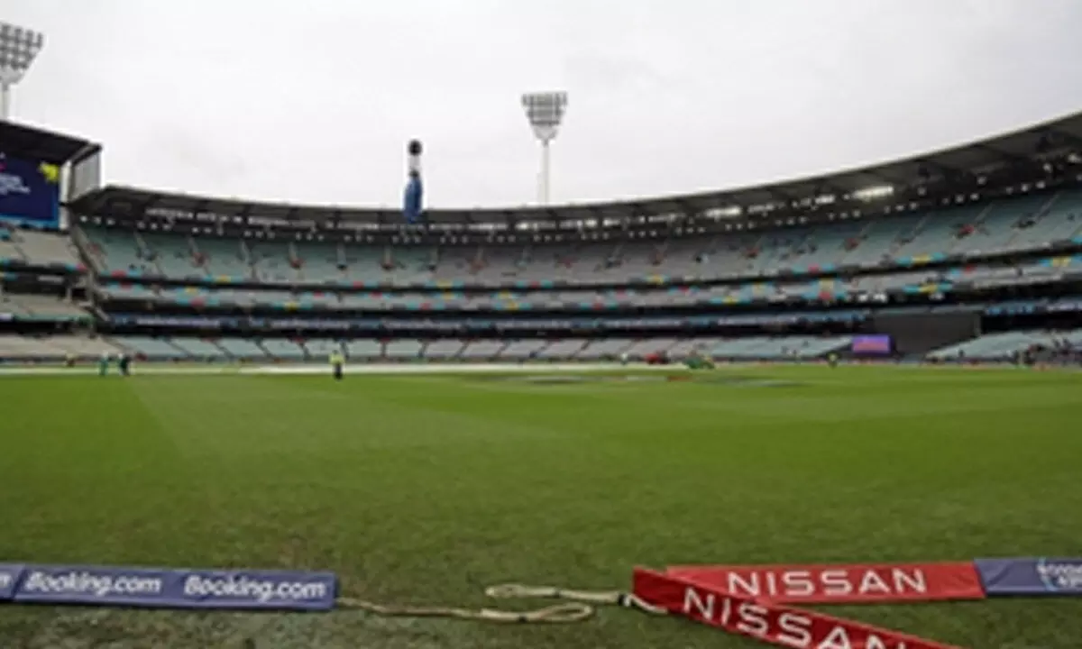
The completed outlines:
[[[0,565],[0,600],[145,608],[326,611],[329,572]]]

